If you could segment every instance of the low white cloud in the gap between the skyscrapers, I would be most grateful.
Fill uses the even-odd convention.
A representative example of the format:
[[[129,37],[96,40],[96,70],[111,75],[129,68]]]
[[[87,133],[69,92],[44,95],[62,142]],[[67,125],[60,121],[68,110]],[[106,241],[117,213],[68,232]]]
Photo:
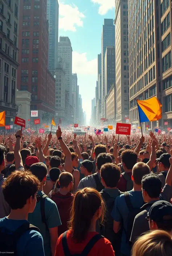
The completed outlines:
[[[80,75],[97,75],[97,58],[89,61],[86,55],[86,52],[73,52],[72,72]]]

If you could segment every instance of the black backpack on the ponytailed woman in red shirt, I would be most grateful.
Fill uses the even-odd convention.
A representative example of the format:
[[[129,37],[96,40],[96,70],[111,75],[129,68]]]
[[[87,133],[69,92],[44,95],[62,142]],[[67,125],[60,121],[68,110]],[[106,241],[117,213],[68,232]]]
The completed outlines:
[[[87,243],[86,247],[83,249],[82,253],[80,254],[71,254],[69,252],[69,248],[67,246],[67,231],[63,233],[62,235],[62,246],[63,246],[63,251],[65,256],[87,256],[91,249],[93,248],[94,244],[100,240],[103,236],[100,234],[97,234],[91,238],[91,240]]]

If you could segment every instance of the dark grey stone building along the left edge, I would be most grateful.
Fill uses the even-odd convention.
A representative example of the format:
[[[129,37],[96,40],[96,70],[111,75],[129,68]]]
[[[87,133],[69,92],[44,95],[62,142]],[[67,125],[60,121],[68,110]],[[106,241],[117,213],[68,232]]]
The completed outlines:
[[[5,124],[16,116],[19,1],[0,1],[0,112]]]

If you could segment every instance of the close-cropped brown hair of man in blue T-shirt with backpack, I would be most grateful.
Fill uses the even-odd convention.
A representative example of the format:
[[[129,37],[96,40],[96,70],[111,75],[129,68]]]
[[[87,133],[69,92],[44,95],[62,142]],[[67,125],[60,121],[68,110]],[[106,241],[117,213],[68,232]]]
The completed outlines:
[[[136,163],[132,168],[132,176],[134,178],[134,182],[137,185],[142,184],[142,178],[146,174],[150,174],[150,168],[146,163]]]

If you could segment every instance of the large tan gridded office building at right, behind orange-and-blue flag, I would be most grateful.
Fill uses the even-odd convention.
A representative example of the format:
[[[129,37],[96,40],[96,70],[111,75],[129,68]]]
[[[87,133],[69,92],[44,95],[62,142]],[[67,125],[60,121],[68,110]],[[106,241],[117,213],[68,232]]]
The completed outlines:
[[[156,96],[162,118],[146,125],[172,125],[171,1],[128,1],[130,56],[130,119],[139,124],[136,99]],[[137,11],[135,11],[137,10]]]

